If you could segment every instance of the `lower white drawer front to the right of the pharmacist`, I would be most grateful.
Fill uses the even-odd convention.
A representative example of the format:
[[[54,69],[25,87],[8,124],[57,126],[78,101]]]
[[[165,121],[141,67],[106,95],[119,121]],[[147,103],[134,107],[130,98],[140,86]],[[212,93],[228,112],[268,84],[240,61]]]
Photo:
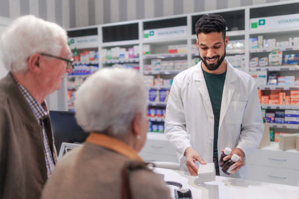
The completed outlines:
[[[248,164],[248,180],[298,186],[299,171]]]

